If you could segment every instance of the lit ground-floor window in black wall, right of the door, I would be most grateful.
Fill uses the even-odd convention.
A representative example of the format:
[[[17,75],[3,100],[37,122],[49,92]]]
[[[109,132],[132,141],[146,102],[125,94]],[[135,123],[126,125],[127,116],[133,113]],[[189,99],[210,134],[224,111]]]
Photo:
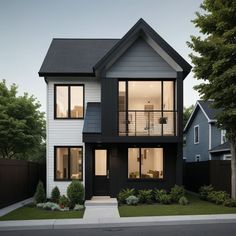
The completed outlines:
[[[163,179],[163,148],[129,148],[128,178]]]

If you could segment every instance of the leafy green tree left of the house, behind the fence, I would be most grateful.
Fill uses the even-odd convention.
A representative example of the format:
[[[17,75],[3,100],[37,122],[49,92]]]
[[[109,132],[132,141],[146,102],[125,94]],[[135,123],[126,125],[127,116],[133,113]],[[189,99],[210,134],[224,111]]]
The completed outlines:
[[[39,102],[25,93],[17,96],[17,86],[0,81],[0,157],[28,159],[45,152],[45,119]]]

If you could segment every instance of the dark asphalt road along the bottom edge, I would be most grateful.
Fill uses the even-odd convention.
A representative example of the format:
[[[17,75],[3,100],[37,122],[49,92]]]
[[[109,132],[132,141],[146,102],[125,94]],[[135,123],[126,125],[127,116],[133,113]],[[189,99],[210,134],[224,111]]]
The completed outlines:
[[[162,225],[124,228],[5,231],[0,236],[235,236],[236,223]]]

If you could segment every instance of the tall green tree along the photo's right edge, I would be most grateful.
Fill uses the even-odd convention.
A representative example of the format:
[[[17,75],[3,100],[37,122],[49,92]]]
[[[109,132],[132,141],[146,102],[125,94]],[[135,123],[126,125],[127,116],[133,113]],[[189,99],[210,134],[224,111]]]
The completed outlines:
[[[222,109],[217,124],[227,132],[232,154],[232,195],[236,197],[236,0],[204,0],[202,12],[193,23],[201,36],[188,42],[197,54],[190,57],[204,100],[213,99],[213,107]]]

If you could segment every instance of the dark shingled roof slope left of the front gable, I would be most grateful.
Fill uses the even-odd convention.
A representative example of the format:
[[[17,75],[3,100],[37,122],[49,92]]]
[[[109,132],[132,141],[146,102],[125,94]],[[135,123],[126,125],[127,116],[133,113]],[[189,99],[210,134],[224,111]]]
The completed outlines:
[[[94,65],[119,39],[53,39],[39,75],[94,74]]]

